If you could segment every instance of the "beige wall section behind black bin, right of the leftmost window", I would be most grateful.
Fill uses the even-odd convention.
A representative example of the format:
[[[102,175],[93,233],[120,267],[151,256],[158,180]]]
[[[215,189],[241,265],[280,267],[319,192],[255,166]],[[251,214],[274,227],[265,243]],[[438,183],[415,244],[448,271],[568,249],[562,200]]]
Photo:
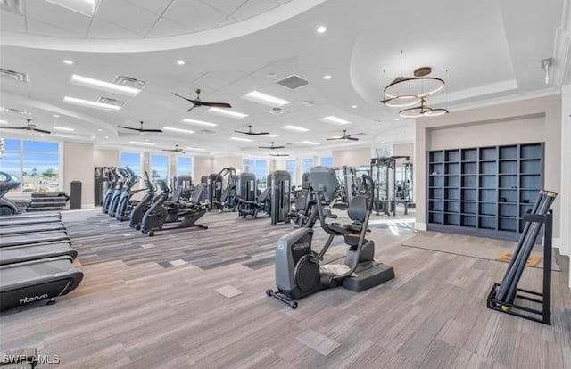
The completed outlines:
[[[71,181],[81,182],[81,205],[94,206],[93,143],[63,143],[63,191],[70,194]]]

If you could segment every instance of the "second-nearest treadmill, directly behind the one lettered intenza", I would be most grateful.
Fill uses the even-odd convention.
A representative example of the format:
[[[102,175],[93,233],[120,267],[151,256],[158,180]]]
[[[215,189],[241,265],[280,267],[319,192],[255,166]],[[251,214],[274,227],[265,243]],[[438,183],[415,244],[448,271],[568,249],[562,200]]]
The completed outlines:
[[[38,258],[61,256],[69,256],[74,260],[78,256],[78,251],[71,247],[70,242],[32,243],[29,245],[3,247],[0,249],[0,266],[37,260]]]

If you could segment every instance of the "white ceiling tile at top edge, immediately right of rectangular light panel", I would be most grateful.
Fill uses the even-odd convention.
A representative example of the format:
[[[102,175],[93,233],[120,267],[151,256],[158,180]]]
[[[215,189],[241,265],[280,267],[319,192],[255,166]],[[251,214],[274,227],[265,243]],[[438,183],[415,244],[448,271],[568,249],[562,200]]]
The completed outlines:
[[[157,21],[158,15],[124,0],[114,0],[100,4],[96,18],[146,35]]]

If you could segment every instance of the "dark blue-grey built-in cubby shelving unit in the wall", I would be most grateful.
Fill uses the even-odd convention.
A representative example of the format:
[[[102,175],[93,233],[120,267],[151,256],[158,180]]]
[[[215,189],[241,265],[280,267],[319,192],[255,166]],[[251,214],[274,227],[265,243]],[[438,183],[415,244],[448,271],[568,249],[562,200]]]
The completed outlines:
[[[428,152],[428,229],[517,239],[543,187],[543,143]]]

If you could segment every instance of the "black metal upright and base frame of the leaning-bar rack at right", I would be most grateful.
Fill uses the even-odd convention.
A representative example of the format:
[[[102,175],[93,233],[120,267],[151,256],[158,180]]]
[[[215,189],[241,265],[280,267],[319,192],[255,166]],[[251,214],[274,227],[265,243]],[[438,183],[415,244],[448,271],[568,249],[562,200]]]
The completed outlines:
[[[525,299],[542,304],[541,309],[531,307],[524,307],[515,303],[507,303],[496,299],[496,291],[500,283],[494,283],[492,291],[488,294],[487,307],[492,310],[500,311],[501,313],[509,314],[511,316],[519,316],[524,319],[532,320],[542,324],[551,325],[551,255],[552,255],[552,236],[553,236],[553,215],[551,212],[547,214],[525,214],[524,220],[534,223],[542,223],[544,225],[544,244],[543,244],[543,289],[542,292],[529,291],[524,289],[517,289],[516,298]],[[521,295],[526,293],[534,297]],[[532,313],[536,316],[523,314]]]

